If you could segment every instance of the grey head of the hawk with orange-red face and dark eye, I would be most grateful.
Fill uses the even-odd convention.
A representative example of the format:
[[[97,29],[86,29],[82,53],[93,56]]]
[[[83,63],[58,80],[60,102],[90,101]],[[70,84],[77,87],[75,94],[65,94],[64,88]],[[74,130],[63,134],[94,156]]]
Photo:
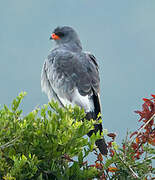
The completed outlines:
[[[76,31],[69,26],[57,27],[50,36],[57,44],[76,43],[81,46]]]

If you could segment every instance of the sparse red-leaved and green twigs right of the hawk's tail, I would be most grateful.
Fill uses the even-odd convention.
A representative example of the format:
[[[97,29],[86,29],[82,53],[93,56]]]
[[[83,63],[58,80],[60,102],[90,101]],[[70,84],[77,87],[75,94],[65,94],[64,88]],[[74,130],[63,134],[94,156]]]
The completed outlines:
[[[155,95],[151,99],[144,98],[142,111],[135,111],[140,115],[139,122],[143,122],[137,131],[127,133],[122,146],[116,144],[115,133],[107,134],[111,137],[108,143],[109,156],[103,160],[101,154],[96,153],[97,160],[94,166],[99,169],[104,179],[155,179],[155,168],[152,161],[155,159]]]

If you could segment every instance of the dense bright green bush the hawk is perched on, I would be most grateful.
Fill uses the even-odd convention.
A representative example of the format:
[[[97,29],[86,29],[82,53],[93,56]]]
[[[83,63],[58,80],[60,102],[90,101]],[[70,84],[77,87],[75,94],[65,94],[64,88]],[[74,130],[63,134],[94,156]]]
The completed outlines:
[[[99,135],[89,142],[83,137],[93,128],[93,121],[82,121],[84,110],[77,106],[62,109],[51,102],[22,116],[19,105],[24,95],[21,93],[13,100],[11,109],[4,105],[0,110],[0,177],[92,178],[96,170],[81,167]],[[78,160],[69,163],[66,157]]]

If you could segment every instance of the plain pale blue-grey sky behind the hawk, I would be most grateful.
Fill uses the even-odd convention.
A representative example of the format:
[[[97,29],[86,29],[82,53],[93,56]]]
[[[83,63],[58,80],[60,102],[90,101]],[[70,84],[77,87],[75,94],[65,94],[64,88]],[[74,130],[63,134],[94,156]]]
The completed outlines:
[[[0,2],[0,104],[26,91],[24,113],[48,103],[44,59],[57,26],[74,27],[100,65],[104,128],[125,138],[138,127],[142,98],[155,94],[154,0],[5,0]]]

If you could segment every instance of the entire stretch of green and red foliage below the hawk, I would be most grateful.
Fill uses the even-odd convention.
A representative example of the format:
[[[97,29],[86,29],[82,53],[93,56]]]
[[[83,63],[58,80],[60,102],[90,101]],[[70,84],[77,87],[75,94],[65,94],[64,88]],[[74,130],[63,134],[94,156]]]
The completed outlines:
[[[109,154],[103,157],[95,147],[97,133],[85,135],[95,121],[86,121],[79,107],[62,109],[55,102],[23,116],[20,103],[25,93],[13,100],[11,109],[0,110],[0,179],[5,180],[90,180],[151,179],[155,174],[155,96],[144,99],[143,122],[128,133],[122,146],[115,133],[107,133]],[[104,135],[106,130],[104,130]],[[103,135],[103,134],[102,134]],[[96,159],[87,162],[93,151]]]

